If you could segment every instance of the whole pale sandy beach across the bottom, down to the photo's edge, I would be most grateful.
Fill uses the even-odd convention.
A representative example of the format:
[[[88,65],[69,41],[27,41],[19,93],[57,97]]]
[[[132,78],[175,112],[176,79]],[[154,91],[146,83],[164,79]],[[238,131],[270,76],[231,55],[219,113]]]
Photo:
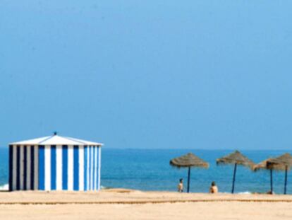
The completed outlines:
[[[291,208],[292,195],[0,192],[0,219],[292,219]]]

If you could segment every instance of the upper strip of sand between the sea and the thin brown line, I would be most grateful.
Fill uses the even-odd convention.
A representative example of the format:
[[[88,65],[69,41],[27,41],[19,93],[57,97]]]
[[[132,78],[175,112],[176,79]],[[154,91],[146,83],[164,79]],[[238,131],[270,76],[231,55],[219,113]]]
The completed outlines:
[[[292,195],[179,193],[109,189],[99,192],[1,191],[2,204],[161,204],[185,202],[292,202]]]

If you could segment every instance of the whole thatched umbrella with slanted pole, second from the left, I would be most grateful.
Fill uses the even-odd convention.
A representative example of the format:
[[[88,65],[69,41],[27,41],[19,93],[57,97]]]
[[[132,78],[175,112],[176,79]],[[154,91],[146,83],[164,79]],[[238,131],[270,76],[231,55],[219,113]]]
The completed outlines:
[[[243,154],[241,154],[241,152],[239,151],[234,151],[233,153],[218,158],[216,161],[217,165],[226,165],[226,164],[234,164],[234,170],[233,170],[233,181],[232,181],[232,190],[231,193],[234,192],[234,185],[235,185],[235,181],[236,181],[236,168],[237,165],[241,165],[241,166],[248,166],[249,168],[253,168],[253,166],[255,165],[255,163],[253,163],[253,161],[250,161],[249,158],[247,158],[246,156],[244,156]]]

